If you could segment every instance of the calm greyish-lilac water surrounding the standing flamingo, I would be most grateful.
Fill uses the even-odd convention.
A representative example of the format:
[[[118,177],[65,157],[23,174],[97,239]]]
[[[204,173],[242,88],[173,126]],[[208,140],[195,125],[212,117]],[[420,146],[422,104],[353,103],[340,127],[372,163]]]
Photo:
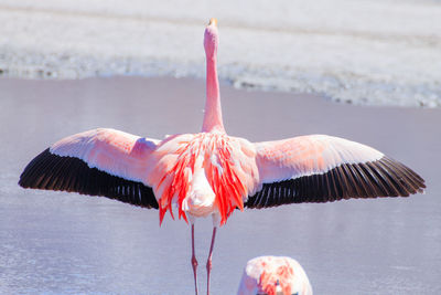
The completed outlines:
[[[235,212],[219,229],[213,294],[235,294],[259,255],[298,260],[315,294],[441,294],[440,109],[332,104],[222,86],[230,135],[330,134],[374,146],[427,180],[426,194]],[[0,80],[0,294],[193,294],[190,229],[106,198],[24,190],[24,166],[71,134],[195,133],[204,84],[173,78]],[[174,107],[170,107],[170,106]],[[211,220],[196,223],[200,285]]]

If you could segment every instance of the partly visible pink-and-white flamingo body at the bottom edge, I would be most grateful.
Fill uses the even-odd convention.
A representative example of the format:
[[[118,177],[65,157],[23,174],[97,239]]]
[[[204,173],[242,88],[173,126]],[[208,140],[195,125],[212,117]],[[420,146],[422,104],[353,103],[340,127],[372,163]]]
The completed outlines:
[[[291,257],[260,256],[248,261],[237,295],[312,295],[303,267]]]

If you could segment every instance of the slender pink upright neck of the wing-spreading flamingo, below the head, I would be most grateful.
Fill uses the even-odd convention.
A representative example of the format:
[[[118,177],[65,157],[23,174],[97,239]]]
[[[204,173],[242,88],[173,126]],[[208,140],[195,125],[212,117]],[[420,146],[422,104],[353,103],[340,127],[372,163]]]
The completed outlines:
[[[206,102],[203,133],[220,131],[225,133],[222,119],[219,81],[217,78],[216,55],[206,56]]]

